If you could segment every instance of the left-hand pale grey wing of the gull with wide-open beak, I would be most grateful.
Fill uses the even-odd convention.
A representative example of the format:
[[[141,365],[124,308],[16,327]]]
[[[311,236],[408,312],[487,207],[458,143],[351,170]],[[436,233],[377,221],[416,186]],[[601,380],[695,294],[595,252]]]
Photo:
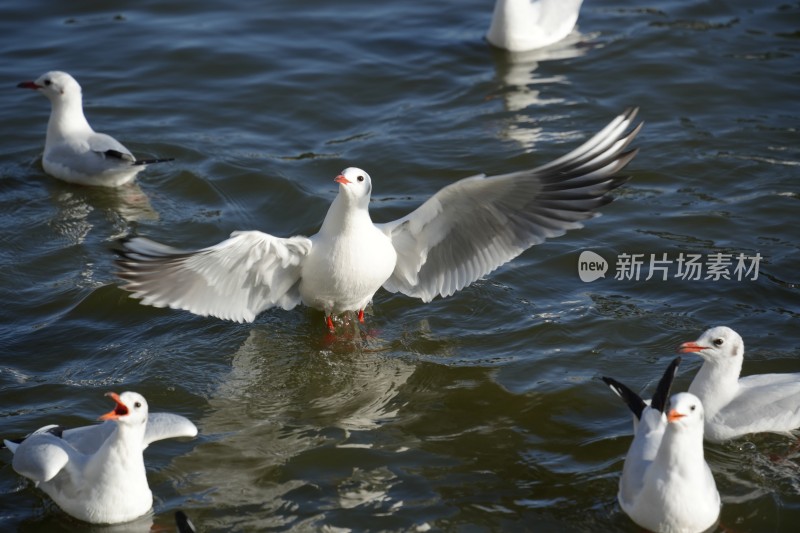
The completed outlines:
[[[34,433],[14,450],[11,465],[18,474],[43,483],[53,479],[76,455],[63,439],[50,433]]]

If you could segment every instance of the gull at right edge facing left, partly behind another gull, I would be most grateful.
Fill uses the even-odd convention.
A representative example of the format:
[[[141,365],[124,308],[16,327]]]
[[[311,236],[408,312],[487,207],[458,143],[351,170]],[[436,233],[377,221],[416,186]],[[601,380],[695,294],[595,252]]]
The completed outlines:
[[[703,358],[689,385],[706,410],[706,439],[721,442],[748,433],[788,433],[800,427],[800,373],[756,374],[739,378],[744,342],[731,328],[718,326],[683,353]]]

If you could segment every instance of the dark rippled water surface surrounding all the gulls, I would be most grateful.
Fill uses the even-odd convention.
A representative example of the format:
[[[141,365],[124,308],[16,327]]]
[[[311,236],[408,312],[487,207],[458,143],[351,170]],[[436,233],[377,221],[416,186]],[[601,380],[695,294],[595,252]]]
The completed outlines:
[[[90,423],[108,390],[200,428],[147,450],[152,516],[92,530],[184,509],[202,531],[636,531],[616,503],[630,418],[599,376],[650,390],[715,324],[743,335],[746,373],[800,371],[798,2],[587,0],[568,42],[519,57],[483,40],[490,0],[109,4],[0,5],[0,434]],[[120,191],[44,175],[49,105],[15,85],[51,69],[96,129],[176,161]],[[351,165],[392,220],[630,105],[641,152],[604,216],[451,298],[380,292],[333,341],[318,312],[232,324],[140,306],[113,274],[130,233],[310,234]],[[578,278],[586,250],[605,278]],[[691,280],[681,253],[762,260],[757,279]],[[673,261],[669,279],[615,279],[623,254]],[[722,526],[796,530],[794,444],[707,446]],[[0,493],[3,530],[89,529],[8,452]]]

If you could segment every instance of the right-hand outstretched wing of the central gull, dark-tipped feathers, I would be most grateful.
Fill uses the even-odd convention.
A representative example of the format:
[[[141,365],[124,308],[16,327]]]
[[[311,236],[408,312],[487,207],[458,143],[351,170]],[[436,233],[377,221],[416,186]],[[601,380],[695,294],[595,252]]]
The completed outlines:
[[[378,224],[397,250],[384,288],[426,302],[449,296],[530,246],[581,227],[627,179],[614,174],[636,155],[625,151],[641,128],[630,130],[636,112],[627,110],[551,163],[462,179],[408,216]]]

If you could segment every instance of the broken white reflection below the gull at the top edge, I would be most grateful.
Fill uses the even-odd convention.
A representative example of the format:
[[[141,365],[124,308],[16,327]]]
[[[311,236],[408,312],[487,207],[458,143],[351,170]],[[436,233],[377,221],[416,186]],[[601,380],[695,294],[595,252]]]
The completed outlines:
[[[505,110],[511,113],[502,131],[502,138],[516,141],[526,152],[531,152],[537,142],[545,140],[544,128],[535,118],[523,113],[530,107],[545,107],[564,102],[561,97],[548,97],[548,86],[569,85],[567,76],[541,76],[539,64],[545,61],[561,61],[580,57],[596,46],[591,36],[584,36],[577,29],[563,40],[548,47],[527,52],[494,50],[497,78],[502,86],[501,97]]]

